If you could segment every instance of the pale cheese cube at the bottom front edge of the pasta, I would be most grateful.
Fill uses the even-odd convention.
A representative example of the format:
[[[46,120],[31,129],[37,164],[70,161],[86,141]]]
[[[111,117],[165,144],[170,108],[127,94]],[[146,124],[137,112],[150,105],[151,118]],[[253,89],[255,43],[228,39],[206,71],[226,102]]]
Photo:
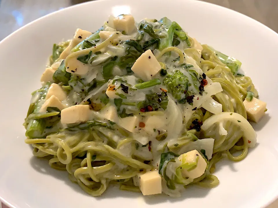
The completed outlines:
[[[144,196],[162,193],[161,176],[158,170],[140,175],[140,190]]]

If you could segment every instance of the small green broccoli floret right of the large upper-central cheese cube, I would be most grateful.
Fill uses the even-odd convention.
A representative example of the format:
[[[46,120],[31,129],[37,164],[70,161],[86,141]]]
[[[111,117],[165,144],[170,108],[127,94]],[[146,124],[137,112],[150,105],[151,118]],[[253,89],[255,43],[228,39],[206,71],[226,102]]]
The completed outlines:
[[[167,74],[166,78],[163,79],[163,83],[167,86],[168,91],[179,101],[184,99],[187,95],[188,82],[188,77],[180,70],[176,70],[172,75]]]

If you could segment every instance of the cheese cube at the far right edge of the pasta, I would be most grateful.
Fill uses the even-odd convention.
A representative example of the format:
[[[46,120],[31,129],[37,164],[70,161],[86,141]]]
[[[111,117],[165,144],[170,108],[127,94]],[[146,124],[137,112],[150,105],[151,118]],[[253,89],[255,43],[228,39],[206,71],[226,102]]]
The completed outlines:
[[[255,97],[251,101],[244,100],[243,105],[246,109],[247,118],[251,121],[258,122],[265,114],[266,102],[261,101]]]

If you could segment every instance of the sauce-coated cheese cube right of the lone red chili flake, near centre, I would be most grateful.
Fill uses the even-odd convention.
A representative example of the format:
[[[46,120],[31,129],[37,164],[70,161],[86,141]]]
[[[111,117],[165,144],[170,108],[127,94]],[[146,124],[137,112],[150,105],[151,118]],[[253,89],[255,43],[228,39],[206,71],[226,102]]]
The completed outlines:
[[[155,133],[153,129],[162,130],[166,125],[166,115],[148,116],[145,120],[144,130],[150,134]]]

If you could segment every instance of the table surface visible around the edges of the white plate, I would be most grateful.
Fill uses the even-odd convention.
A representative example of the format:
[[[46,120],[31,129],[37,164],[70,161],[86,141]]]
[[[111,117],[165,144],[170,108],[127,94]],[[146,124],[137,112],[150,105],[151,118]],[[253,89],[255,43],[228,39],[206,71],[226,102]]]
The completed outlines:
[[[0,0],[0,40],[41,16],[85,1],[86,0]],[[278,32],[278,0],[204,1],[243,13]],[[275,207],[278,207],[278,199],[267,208]],[[2,205],[2,208],[7,207]]]

